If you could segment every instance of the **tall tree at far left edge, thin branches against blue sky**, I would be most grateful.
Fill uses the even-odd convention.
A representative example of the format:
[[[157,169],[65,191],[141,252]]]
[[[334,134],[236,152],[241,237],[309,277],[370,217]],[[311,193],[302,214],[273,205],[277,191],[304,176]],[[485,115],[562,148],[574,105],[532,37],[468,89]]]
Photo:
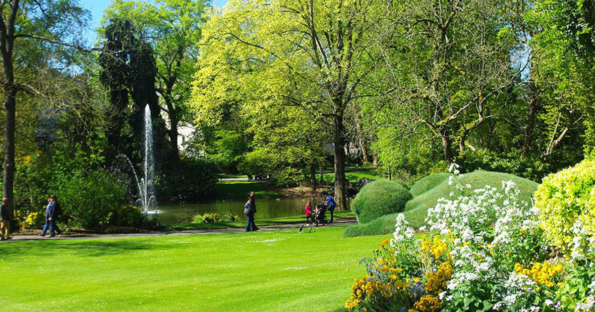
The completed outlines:
[[[15,110],[17,94],[26,90],[21,82],[15,52],[27,40],[88,51],[78,45],[80,29],[89,13],[75,0],[4,0],[0,2],[0,54],[5,109],[4,168],[2,196],[12,205],[15,172]],[[67,39],[73,42],[67,42]],[[12,209],[12,207],[11,207]]]

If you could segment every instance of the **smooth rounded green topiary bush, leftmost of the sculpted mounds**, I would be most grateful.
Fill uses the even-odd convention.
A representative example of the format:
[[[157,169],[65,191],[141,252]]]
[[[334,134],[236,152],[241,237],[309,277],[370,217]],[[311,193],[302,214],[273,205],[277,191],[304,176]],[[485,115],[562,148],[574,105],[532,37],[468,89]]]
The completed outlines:
[[[364,185],[351,203],[351,210],[359,223],[367,223],[378,217],[402,212],[405,203],[412,198],[402,184],[378,180]]]

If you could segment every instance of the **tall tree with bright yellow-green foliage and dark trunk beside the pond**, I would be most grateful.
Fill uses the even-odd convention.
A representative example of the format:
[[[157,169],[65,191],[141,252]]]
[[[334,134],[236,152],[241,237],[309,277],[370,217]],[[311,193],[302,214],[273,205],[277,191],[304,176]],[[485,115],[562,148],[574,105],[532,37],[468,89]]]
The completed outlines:
[[[363,96],[358,91],[374,66],[369,35],[379,20],[376,5],[372,0],[228,2],[221,15],[205,25],[202,56],[206,62],[205,53],[220,57],[212,59],[211,71],[199,79],[219,85],[215,90],[195,89],[199,113],[220,105],[210,100],[237,87],[240,72],[253,84],[268,86],[242,97],[272,97],[315,116],[331,133],[335,197],[345,207],[344,120],[354,99]],[[240,71],[230,70],[238,67]]]

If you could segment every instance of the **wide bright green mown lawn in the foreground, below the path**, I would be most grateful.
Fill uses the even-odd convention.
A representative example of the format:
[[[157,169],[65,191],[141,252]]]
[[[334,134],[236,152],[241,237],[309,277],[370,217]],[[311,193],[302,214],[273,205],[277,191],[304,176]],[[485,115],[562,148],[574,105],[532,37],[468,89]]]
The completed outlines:
[[[343,227],[0,244],[3,311],[336,311],[388,235]]]

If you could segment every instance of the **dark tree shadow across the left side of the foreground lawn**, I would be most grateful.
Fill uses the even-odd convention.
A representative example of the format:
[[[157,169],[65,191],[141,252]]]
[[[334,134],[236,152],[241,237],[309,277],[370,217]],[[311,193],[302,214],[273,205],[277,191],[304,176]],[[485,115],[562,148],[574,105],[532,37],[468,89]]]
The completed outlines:
[[[178,246],[179,247],[179,246]],[[146,239],[68,239],[55,241],[24,241],[0,244],[0,260],[29,259],[72,255],[77,257],[102,257],[134,253],[143,250],[177,248],[176,244],[164,244]]]

